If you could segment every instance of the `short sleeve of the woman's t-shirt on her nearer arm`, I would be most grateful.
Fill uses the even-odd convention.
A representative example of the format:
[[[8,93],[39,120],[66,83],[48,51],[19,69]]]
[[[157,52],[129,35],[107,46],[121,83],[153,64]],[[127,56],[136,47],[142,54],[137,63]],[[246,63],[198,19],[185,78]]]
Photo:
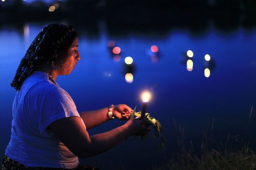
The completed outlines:
[[[41,135],[48,133],[45,132],[46,128],[56,120],[73,116],[80,117],[72,98],[62,88],[51,85],[41,89],[39,94],[41,101],[38,101],[37,109]]]

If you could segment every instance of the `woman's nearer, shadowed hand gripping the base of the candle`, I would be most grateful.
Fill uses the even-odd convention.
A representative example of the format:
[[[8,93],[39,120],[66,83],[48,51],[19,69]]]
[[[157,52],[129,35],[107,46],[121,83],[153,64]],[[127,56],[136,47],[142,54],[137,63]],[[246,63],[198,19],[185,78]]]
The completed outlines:
[[[149,126],[141,119],[131,118],[126,122],[126,125],[132,128],[130,134],[132,136],[146,135],[150,131]]]

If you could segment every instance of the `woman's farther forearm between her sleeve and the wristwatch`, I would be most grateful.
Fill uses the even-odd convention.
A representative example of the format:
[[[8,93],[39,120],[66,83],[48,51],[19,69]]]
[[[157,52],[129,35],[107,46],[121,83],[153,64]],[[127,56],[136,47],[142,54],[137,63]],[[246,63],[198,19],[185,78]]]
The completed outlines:
[[[86,129],[90,129],[106,122],[108,120],[107,112],[108,108],[105,107],[95,111],[80,112],[79,114],[86,126]]]

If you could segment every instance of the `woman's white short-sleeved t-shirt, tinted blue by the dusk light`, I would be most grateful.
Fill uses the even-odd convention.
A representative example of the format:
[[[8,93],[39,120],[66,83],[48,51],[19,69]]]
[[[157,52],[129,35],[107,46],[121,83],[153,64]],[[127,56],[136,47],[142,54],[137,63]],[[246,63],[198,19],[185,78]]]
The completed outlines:
[[[68,93],[44,72],[33,72],[16,92],[5,155],[28,167],[77,167],[78,158],[47,128],[58,119],[72,116],[80,117]],[[81,122],[84,125],[82,119]]]

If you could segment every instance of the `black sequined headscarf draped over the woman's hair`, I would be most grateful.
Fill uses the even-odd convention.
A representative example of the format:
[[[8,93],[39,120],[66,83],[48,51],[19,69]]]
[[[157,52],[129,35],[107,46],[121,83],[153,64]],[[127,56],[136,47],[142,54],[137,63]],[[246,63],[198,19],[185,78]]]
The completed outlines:
[[[71,25],[52,23],[44,26],[21,59],[10,86],[19,90],[22,82],[34,70],[41,64],[54,62],[63,55],[77,36]]]

